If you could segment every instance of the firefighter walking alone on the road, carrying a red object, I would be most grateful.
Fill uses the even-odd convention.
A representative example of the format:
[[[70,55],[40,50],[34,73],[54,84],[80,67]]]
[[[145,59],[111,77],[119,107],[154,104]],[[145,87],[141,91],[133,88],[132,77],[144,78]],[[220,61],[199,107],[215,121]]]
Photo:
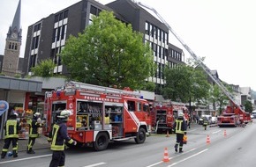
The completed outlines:
[[[175,123],[173,125],[173,128],[176,133],[176,144],[174,146],[175,152],[177,152],[177,148],[179,147],[179,153],[183,152],[183,137],[184,134],[186,135],[186,128],[187,124],[184,120],[184,113],[178,113],[177,120],[175,120]]]

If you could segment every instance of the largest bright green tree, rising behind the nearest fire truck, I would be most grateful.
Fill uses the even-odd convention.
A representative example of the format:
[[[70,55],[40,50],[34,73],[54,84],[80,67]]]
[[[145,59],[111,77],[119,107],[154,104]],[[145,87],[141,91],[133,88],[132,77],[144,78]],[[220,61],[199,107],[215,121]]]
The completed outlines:
[[[132,25],[102,11],[84,33],[70,36],[61,53],[70,76],[79,82],[141,89],[154,74],[153,53]]]

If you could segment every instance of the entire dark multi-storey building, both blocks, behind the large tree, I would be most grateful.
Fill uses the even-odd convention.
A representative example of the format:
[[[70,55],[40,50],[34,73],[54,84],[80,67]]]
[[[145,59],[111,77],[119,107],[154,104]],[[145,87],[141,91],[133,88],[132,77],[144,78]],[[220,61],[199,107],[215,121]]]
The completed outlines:
[[[82,33],[92,23],[92,16],[98,16],[102,10],[114,11],[117,19],[131,24],[134,31],[145,34],[144,42],[153,48],[154,62],[158,67],[155,76],[148,78],[148,81],[161,88],[164,84],[164,66],[169,64],[169,67],[174,67],[177,63],[184,63],[183,51],[169,44],[169,29],[166,25],[131,0],[117,0],[106,5],[94,0],[82,0],[30,25],[26,37],[24,74],[31,74],[32,67],[49,58],[56,64],[55,73],[68,74],[58,56],[65,40],[71,34],[77,36]]]

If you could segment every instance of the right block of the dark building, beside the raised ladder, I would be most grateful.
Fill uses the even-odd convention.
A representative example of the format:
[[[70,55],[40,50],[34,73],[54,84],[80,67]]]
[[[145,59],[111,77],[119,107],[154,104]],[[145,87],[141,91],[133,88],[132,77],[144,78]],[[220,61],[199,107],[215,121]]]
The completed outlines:
[[[139,4],[131,0],[117,0],[106,4],[114,11],[124,16],[135,31],[144,33],[144,41],[148,42],[154,51],[154,63],[157,71],[148,81],[156,84],[156,93],[160,93],[164,81],[163,69],[166,65],[175,67],[184,63],[183,50],[169,44],[169,29],[158,18],[155,18]]]

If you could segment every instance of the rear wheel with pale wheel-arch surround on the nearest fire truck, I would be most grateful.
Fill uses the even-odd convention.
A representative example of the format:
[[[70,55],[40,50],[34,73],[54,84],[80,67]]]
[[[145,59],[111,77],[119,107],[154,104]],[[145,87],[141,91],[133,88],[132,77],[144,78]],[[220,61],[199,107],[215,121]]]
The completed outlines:
[[[102,151],[109,146],[109,136],[112,136],[109,131],[94,131],[94,149]]]

